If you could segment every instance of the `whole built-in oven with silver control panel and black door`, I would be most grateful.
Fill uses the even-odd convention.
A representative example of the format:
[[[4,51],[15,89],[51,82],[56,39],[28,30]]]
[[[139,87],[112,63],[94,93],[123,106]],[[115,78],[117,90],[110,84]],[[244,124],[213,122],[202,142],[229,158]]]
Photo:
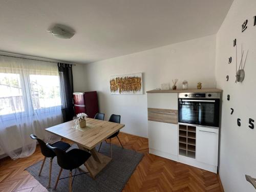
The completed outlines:
[[[219,126],[221,93],[179,93],[179,122]]]

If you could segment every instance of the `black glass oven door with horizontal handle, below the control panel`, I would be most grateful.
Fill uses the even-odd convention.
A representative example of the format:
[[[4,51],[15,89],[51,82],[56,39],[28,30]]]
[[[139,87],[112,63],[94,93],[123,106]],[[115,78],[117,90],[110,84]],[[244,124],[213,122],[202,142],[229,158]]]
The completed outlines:
[[[179,122],[219,126],[220,99],[179,99]]]

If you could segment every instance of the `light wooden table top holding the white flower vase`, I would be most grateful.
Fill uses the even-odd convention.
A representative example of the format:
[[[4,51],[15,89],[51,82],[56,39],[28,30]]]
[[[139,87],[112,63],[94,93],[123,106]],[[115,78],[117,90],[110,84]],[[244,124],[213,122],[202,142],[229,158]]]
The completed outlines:
[[[66,138],[76,144],[91,150],[98,143],[124,127],[124,124],[86,118],[87,127],[82,131],[74,129],[74,121],[61,123],[46,129],[47,132]]]

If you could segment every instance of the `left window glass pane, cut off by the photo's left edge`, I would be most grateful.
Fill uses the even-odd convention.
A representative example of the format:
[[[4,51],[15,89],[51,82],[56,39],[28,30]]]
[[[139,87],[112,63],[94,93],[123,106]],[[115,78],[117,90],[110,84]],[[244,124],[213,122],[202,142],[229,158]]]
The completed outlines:
[[[0,73],[0,115],[24,111],[20,76],[15,73]]]

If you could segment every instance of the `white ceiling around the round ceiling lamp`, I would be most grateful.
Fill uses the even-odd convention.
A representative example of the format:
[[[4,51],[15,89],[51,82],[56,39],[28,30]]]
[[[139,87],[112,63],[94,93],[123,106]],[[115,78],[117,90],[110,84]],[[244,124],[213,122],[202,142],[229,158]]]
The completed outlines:
[[[0,51],[87,63],[217,33],[232,0],[0,0]],[[76,31],[58,39],[53,24]]]

